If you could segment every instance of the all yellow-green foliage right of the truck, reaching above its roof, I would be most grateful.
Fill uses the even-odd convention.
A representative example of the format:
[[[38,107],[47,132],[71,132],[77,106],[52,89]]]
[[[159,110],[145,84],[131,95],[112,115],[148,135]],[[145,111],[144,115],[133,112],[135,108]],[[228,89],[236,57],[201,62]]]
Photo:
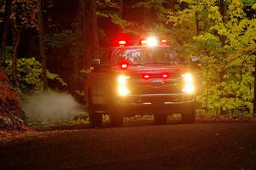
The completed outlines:
[[[186,8],[179,8],[179,3],[185,3]],[[158,20],[162,24],[154,29],[168,30],[166,36],[183,55],[201,58],[199,75],[203,81],[198,100],[202,107],[215,114],[252,113],[256,19],[247,18],[244,10],[255,9],[255,1],[225,1],[225,16],[220,14],[219,1],[180,0],[179,3],[175,8],[161,7]]]

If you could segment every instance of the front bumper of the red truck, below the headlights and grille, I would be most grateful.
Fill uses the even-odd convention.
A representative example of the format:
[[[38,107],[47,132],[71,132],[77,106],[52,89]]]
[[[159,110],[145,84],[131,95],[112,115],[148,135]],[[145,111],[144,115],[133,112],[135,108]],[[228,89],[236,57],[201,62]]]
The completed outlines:
[[[195,97],[189,94],[130,94],[116,101],[125,116],[189,113],[195,108]]]

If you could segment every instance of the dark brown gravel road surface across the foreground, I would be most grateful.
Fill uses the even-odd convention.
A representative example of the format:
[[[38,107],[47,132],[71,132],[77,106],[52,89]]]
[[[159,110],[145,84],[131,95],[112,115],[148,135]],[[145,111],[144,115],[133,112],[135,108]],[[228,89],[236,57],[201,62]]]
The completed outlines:
[[[35,133],[0,142],[0,169],[256,169],[256,123]]]

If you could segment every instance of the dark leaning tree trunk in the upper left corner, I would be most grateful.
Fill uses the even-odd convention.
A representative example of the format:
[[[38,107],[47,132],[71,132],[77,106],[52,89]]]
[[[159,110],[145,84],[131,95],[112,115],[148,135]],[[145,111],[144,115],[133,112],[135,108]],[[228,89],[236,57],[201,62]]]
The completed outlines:
[[[2,45],[0,49],[0,69],[3,65],[5,54],[6,54],[6,46],[7,46],[7,36],[9,31],[9,16],[11,14],[13,0],[6,0],[5,10],[3,14],[3,34],[2,34]]]

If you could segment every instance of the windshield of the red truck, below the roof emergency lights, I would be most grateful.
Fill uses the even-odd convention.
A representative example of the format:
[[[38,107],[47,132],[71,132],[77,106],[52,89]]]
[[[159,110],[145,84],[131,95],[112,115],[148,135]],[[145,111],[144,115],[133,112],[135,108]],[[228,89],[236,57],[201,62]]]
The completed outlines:
[[[182,59],[170,47],[131,47],[113,49],[113,61],[126,60],[131,65],[142,64],[179,64]]]

